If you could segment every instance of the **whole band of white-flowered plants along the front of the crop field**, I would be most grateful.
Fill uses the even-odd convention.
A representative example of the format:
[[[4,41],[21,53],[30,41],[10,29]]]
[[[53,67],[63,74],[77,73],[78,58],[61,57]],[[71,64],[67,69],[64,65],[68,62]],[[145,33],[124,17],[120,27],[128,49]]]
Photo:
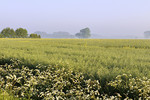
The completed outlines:
[[[33,100],[150,99],[150,79],[119,75],[105,84],[59,66],[29,68],[19,60],[0,64],[1,90]],[[109,92],[104,92],[107,89]]]

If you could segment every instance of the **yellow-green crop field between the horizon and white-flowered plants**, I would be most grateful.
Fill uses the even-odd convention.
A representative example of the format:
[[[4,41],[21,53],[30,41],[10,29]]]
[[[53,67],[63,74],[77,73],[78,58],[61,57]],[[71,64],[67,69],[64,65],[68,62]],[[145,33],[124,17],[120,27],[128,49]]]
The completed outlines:
[[[150,40],[0,39],[0,63],[7,59],[68,68],[103,84],[122,74],[150,78]]]

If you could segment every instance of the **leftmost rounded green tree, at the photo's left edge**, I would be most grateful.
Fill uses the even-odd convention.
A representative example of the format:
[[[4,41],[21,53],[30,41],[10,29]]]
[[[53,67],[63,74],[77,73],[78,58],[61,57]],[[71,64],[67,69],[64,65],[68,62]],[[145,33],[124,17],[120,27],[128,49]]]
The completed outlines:
[[[10,29],[8,27],[8,28],[5,28],[1,31],[1,36],[4,38],[15,38],[16,33],[15,33],[14,29]]]

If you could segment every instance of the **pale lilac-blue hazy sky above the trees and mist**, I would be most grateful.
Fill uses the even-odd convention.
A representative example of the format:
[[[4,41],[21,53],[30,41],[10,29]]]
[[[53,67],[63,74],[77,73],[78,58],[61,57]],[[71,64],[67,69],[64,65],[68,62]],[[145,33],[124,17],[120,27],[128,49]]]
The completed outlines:
[[[150,30],[150,0],[0,0],[0,30],[29,33],[89,27],[94,34],[143,34]]]

